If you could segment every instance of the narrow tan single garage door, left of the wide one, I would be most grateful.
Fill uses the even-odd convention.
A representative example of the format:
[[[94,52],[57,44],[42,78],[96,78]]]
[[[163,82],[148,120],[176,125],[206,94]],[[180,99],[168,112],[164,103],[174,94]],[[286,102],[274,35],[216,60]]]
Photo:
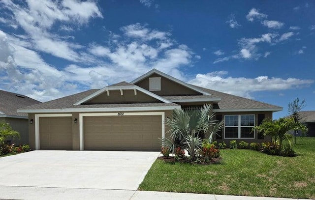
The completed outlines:
[[[72,150],[72,117],[39,117],[39,148]]]

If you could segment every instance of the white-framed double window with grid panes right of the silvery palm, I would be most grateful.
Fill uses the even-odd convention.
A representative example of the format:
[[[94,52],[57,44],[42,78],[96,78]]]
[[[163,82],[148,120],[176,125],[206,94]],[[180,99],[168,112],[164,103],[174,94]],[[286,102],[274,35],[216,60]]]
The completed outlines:
[[[252,127],[255,126],[255,115],[225,115],[224,116],[224,138],[244,139],[254,138]]]

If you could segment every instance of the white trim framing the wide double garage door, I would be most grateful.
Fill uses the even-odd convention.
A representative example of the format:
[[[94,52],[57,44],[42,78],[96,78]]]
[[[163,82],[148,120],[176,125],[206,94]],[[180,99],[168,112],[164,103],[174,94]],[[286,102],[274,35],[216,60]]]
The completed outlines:
[[[80,113],[79,114],[79,134],[80,134],[80,151],[84,150],[84,116],[118,116],[119,113]],[[165,137],[165,113],[164,112],[148,112],[148,113],[124,113],[124,116],[136,115],[161,115],[161,138]],[[124,117],[122,116],[122,117]]]

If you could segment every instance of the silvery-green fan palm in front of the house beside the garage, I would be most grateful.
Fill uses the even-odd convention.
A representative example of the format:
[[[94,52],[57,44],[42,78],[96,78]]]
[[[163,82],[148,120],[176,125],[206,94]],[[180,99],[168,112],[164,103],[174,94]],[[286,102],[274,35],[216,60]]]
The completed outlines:
[[[200,108],[175,109],[172,118],[167,118],[165,124],[170,127],[167,132],[169,138],[162,138],[162,143],[171,151],[175,146],[187,149],[190,157],[195,159],[196,152],[200,149],[202,138],[201,132],[208,133],[211,130],[209,143],[211,143],[214,134],[223,127],[224,121],[217,123],[212,120],[215,114],[210,114],[212,105],[204,105]]]

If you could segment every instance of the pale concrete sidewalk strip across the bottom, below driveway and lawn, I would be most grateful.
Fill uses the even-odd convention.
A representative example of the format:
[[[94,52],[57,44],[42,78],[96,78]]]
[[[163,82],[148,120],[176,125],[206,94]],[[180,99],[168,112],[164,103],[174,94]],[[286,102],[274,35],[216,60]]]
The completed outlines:
[[[296,200],[134,190],[0,186],[0,200]]]

